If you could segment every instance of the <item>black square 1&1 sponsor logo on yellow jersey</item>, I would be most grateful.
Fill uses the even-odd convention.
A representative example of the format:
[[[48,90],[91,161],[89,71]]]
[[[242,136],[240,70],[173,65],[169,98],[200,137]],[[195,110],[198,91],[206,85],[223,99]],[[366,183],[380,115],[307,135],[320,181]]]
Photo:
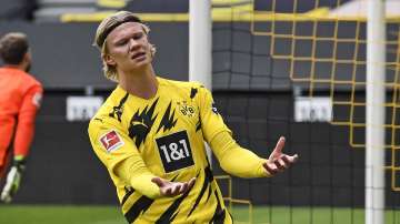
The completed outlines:
[[[186,131],[156,139],[166,173],[194,164],[192,151]]]

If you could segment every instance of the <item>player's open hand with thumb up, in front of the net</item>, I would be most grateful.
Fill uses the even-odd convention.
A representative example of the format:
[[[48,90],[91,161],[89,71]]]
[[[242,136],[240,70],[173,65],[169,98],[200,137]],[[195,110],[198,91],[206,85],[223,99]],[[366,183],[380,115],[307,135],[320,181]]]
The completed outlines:
[[[284,138],[281,136],[273,149],[271,155],[269,156],[268,161],[263,163],[263,167],[268,171],[269,174],[274,175],[279,172],[282,172],[290,167],[291,164],[296,163],[298,160],[298,154],[294,155],[287,155],[282,153],[282,149],[284,146]]]

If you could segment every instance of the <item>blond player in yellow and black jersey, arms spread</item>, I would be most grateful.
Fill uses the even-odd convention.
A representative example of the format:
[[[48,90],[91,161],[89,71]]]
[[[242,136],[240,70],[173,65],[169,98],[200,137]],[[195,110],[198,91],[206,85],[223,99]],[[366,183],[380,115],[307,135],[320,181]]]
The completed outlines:
[[[210,91],[157,77],[149,28],[131,12],[106,18],[94,44],[118,85],[88,132],[129,223],[232,223],[203,141],[236,176],[272,176],[296,162],[298,155],[282,153],[283,138],[268,160],[240,147]]]

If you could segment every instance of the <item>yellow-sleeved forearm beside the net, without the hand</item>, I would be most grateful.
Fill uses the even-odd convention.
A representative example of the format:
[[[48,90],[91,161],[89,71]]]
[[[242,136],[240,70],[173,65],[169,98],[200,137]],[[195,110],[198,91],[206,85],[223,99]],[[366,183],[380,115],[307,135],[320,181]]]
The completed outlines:
[[[211,141],[211,147],[223,171],[239,177],[269,176],[262,164],[267,161],[241,147],[228,132],[220,132]]]

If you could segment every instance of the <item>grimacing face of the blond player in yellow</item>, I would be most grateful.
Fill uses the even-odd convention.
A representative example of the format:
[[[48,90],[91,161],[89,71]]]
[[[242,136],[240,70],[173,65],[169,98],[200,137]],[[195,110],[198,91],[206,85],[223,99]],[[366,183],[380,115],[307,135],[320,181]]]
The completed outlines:
[[[104,60],[117,70],[134,71],[151,63],[151,48],[142,26],[126,22],[107,37],[108,54]]]

